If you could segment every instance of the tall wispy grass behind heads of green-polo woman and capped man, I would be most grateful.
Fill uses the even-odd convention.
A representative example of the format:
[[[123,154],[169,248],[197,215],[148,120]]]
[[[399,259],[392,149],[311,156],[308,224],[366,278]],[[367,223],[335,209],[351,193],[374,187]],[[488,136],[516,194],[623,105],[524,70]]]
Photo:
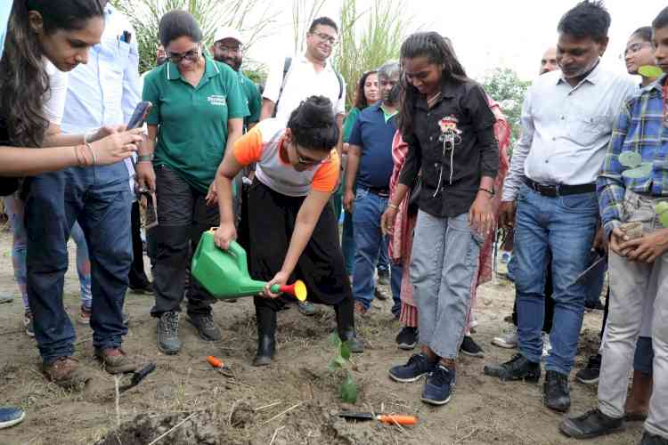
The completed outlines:
[[[278,12],[273,2],[261,0],[111,0],[130,19],[139,45],[139,71],[152,69],[159,44],[162,16],[176,9],[190,12],[200,23],[204,45],[213,43],[216,28],[231,26],[244,37],[245,51],[273,33]],[[244,69],[257,69],[257,62],[244,60]]]

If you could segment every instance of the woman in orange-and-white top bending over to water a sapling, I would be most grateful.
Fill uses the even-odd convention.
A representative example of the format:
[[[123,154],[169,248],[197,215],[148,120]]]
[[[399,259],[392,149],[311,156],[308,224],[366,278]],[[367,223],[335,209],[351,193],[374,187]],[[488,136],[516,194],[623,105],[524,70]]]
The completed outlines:
[[[355,336],[353,297],[346,274],[330,195],[336,190],[338,127],[331,103],[312,96],[295,109],[285,128],[275,119],[257,124],[234,143],[218,167],[216,187],[220,228],[216,246],[227,250],[237,238],[232,214],[232,179],[257,163],[248,190],[248,269],[267,281],[255,296],[257,355],[254,366],[271,363],[275,352],[276,312],[283,302],[270,288],[302,279],[308,299],[334,306],[338,336],[352,352],[363,352]]]

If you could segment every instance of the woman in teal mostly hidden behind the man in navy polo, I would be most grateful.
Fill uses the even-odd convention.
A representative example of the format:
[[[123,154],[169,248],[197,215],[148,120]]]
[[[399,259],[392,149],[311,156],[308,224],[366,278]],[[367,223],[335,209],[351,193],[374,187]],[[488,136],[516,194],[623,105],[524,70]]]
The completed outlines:
[[[360,112],[371,105],[373,102],[379,100],[379,87],[378,87],[378,71],[371,69],[363,73],[362,78],[357,83],[357,93],[355,94],[354,99],[354,108],[350,110],[346,116],[346,122],[343,126],[343,142],[344,142],[344,153],[346,153],[348,148],[348,139],[350,139],[350,134],[353,131],[354,122],[357,120],[357,115]],[[343,162],[343,165],[346,165],[346,161]],[[344,174],[343,177],[346,177]],[[335,197],[335,205],[338,203],[337,210],[340,212],[341,208],[341,195],[343,194],[344,183],[341,181],[341,184],[337,190]],[[343,257],[346,260],[346,271],[348,276],[353,276],[354,268],[354,231],[353,231],[353,215],[345,211],[343,216],[343,233],[341,234],[341,249],[343,250]],[[387,258],[387,255],[386,255]],[[387,260],[386,260],[387,264]]]

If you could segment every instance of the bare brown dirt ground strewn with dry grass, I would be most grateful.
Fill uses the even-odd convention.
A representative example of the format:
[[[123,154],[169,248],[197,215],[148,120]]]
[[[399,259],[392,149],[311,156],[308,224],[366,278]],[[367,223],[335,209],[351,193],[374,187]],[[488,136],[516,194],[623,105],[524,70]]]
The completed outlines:
[[[0,234],[0,251],[5,253],[0,256],[0,292],[16,294],[10,242],[7,233]],[[74,316],[78,290],[72,269],[66,293],[66,306]],[[333,353],[327,338],[334,328],[330,309],[323,307],[313,318],[301,316],[294,308],[281,312],[278,360],[268,368],[252,368],[255,316],[250,299],[216,304],[216,321],[224,329],[221,344],[200,341],[194,328],[183,322],[183,350],[176,357],[167,357],[155,346],[156,323],[148,313],[152,298],[128,294],[126,310],[132,320],[126,351],[154,361],[158,369],[121,396],[124,426],[112,432],[117,424],[114,380],[95,365],[90,328],[76,327],[77,358],[94,379],[85,392],[63,392],[39,374],[37,348],[22,332],[22,304],[16,297],[14,303],[0,305],[0,404],[19,404],[28,415],[22,424],[0,431],[0,444],[88,444],[106,437],[102,443],[146,445],[178,424],[158,443],[577,443],[558,433],[561,417],[543,408],[542,386],[501,384],[482,375],[485,363],[507,360],[513,353],[490,344],[493,336],[507,328],[503,318],[511,312],[512,302],[513,288],[508,283],[485,285],[481,290],[475,338],[484,347],[485,358],[462,358],[452,401],[434,409],[420,402],[421,384],[395,384],[387,377],[391,365],[410,355],[395,346],[399,325],[389,317],[389,302],[374,302],[371,317],[358,321],[367,352],[354,357],[360,396],[356,406],[349,407],[338,401],[340,376],[327,370]],[[585,315],[578,367],[597,347],[599,324],[599,313]],[[237,378],[208,367],[205,359],[211,354],[223,359]],[[572,392],[573,412],[594,406],[594,388],[574,383]],[[336,417],[339,410],[351,408],[416,414],[420,423],[400,429],[373,423],[346,424]],[[624,433],[596,443],[634,444],[640,434],[641,425],[634,424]]]

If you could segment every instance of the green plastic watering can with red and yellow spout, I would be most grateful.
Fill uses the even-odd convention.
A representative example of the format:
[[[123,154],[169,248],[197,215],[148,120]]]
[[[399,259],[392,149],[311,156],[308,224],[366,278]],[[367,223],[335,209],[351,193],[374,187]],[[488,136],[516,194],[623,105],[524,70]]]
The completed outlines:
[[[236,241],[230,243],[227,251],[216,247],[214,229],[204,232],[195,255],[192,257],[191,273],[200,284],[218,300],[257,295],[265,290],[265,281],[251,279],[248,275],[246,251]],[[306,287],[297,280],[289,286],[272,286],[274,294],[284,293],[306,299]]]

